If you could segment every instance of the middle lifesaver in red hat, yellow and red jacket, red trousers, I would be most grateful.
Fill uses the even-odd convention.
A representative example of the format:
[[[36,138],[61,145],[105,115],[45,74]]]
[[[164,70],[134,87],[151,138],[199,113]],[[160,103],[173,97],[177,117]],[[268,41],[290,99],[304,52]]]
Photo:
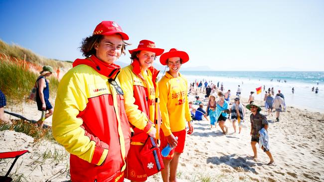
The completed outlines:
[[[118,75],[125,93],[126,114],[134,130],[125,174],[125,178],[131,181],[147,180],[146,170],[150,169],[147,169],[147,164],[142,164],[140,152],[149,136],[155,138],[156,143],[160,138],[161,115],[157,83],[159,71],[153,67],[153,63],[163,51],[156,47],[155,42],[141,40],[136,49],[129,50],[131,65],[123,68]],[[161,152],[158,155],[161,157]]]

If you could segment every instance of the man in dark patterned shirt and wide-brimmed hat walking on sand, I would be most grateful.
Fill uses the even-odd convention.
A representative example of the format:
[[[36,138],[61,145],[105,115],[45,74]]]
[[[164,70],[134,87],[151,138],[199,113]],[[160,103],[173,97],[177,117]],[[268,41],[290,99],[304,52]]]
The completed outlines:
[[[255,104],[255,102],[251,102],[250,104],[246,105],[246,108],[249,109],[252,113],[250,115],[251,120],[251,147],[253,150],[253,159],[257,160],[257,148],[256,143],[259,143],[260,138],[260,131],[264,128],[265,132],[267,133],[268,138],[268,121],[267,117],[260,113],[261,107]],[[263,130],[264,131],[264,130]],[[267,142],[268,143],[268,142]],[[260,145],[260,144],[259,144]],[[274,165],[273,157],[270,153],[269,147],[262,146],[263,151],[268,155],[270,162],[268,165]]]

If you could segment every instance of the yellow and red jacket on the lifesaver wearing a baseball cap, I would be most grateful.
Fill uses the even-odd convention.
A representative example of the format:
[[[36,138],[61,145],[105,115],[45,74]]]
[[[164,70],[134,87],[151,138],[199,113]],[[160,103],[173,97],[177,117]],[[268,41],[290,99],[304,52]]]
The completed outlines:
[[[71,153],[71,181],[123,179],[131,131],[124,97],[108,82],[120,67],[94,55],[73,67],[59,84],[52,119],[54,138]]]

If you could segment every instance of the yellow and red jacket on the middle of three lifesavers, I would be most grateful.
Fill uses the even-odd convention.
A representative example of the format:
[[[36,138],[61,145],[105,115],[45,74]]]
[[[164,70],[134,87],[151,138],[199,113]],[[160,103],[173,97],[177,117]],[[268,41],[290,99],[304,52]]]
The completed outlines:
[[[157,129],[156,138],[160,138],[161,115],[159,108],[159,89],[157,76],[159,71],[153,67],[147,75],[141,71],[138,60],[125,68],[118,75],[124,91],[125,110],[134,130],[131,144],[142,145],[148,138],[151,127]]]

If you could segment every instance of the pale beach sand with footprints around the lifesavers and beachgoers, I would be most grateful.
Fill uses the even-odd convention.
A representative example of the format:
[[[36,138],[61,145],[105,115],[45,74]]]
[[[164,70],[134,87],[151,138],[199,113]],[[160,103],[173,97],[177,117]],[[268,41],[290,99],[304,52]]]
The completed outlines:
[[[203,96],[201,93],[200,96]],[[234,98],[234,97],[233,97]],[[194,95],[189,96],[194,100]],[[247,104],[247,98],[242,98]],[[246,100],[246,101],[244,101]],[[233,100],[231,100],[233,102]],[[52,102],[53,103],[53,102]],[[204,101],[204,104],[207,102]],[[256,100],[259,105],[263,101]],[[205,109],[205,106],[204,106]],[[266,114],[264,107],[261,113]],[[40,112],[34,104],[23,104],[16,110],[23,112],[28,119],[38,119]],[[39,116],[38,116],[39,114]],[[270,151],[276,166],[267,166],[268,156],[258,148],[258,161],[252,160],[250,141],[250,111],[245,109],[246,128],[241,134],[234,133],[229,120],[227,135],[219,126],[210,129],[209,121],[193,121],[194,133],[187,135],[183,154],[178,165],[179,182],[323,182],[324,181],[324,114],[305,109],[287,107],[280,115],[280,122],[273,116],[269,121]],[[51,118],[46,124],[51,124]],[[238,130],[238,129],[237,129]],[[64,148],[53,142],[33,139],[23,133],[0,131],[0,152],[29,150],[21,156],[10,174],[23,175],[21,181],[52,182],[68,181],[69,157]],[[258,147],[258,144],[257,144]],[[45,158],[44,153],[51,151],[53,158]],[[54,152],[55,151],[55,152]],[[56,153],[56,155],[54,155]],[[4,175],[13,160],[0,162],[0,175]],[[25,180],[24,180],[25,179]],[[125,182],[129,182],[125,180]],[[162,182],[161,174],[148,179],[148,182]]]

